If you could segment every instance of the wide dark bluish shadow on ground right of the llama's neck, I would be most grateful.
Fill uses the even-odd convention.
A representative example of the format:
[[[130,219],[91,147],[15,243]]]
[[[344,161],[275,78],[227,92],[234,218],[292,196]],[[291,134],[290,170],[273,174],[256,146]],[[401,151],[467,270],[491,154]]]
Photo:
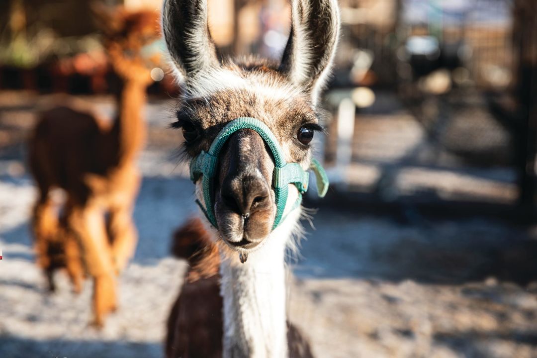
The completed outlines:
[[[302,245],[299,275],[458,284],[490,276],[537,280],[537,240],[487,218],[402,224],[390,216],[327,213]]]

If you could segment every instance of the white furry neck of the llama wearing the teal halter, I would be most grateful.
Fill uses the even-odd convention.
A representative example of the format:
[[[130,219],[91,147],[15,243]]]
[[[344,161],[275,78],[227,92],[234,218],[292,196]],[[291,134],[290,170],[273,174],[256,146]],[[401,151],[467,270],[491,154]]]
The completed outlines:
[[[272,237],[241,264],[222,259],[224,358],[287,356],[285,240]]]

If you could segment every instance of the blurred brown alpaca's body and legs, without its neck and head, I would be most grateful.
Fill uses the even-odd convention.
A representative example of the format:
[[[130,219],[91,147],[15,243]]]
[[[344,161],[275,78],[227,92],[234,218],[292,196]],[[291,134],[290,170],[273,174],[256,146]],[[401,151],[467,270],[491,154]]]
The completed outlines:
[[[54,289],[54,269],[62,266],[77,292],[85,274],[93,277],[93,307],[99,325],[115,309],[116,277],[136,246],[132,211],[140,173],[134,159],[145,130],[138,117],[129,118],[128,123],[120,117],[106,128],[89,113],[56,107],[42,113],[30,141],[29,164],[39,189],[33,216],[38,264],[47,274],[50,289]],[[138,127],[139,140],[125,145],[121,133],[128,125]],[[66,192],[61,217],[49,196],[54,188]],[[43,227],[51,229],[47,232]],[[60,246],[55,254],[51,243]]]

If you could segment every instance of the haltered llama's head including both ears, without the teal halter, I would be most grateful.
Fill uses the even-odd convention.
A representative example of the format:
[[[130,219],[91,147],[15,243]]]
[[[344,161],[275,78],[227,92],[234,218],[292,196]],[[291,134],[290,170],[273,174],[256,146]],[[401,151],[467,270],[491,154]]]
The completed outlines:
[[[318,125],[317,101],[330,72],[339,32],[336,0],[293,0],[291,35],[280,63],[249,57],[222,60],[207,24],[206,0],[165,0],[162,28],[176,77],[183,85],[177,122],[184,150],[194,158],[208,151],[230,121],[264,123],[285,161],[307,170],[310,141]],[[272,186],[274,157],[258,131],[235,131],[218,157],[212,194],[218,237],[231,250],[248,253],[266,242],[277,213]],[[202,207],[204,188],[196,183]],[[289,185],[286,216],[299,198]],[[285,219],[297,220],[299,215]]]

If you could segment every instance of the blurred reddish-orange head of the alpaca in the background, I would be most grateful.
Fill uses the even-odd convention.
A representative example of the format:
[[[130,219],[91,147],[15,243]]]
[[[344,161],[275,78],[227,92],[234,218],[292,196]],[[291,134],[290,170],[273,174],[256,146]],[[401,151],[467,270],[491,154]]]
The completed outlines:
[[[122,79],[150,84],[151,70],[163,62],[159,13],[108,8],[97,2],[92,10],[114,71]]]

